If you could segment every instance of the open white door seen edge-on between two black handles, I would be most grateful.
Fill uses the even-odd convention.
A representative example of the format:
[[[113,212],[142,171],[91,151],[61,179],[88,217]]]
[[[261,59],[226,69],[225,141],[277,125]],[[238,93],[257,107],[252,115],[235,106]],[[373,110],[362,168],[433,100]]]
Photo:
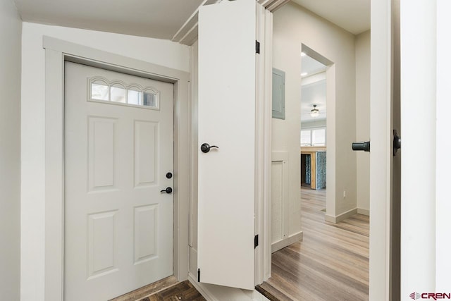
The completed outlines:
[[[371,2],[369,300],[401,297],[399,5],[399,0]]]

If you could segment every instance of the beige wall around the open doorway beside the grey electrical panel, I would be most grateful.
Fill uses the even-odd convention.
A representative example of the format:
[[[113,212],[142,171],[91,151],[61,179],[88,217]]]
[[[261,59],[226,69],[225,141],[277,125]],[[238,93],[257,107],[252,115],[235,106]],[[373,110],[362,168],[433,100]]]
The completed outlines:
[[[299,129],[301,93],[301,45],[335,63],[335,107],[328,105],[328,166],[335,161],[335,206],[327,214],[338,216],[357,207],[355,139],[355,56],[354,35],[288,3],[274,13],[273,67],[285,71],[285,120],[273,119],[273,152],[290,153],[290,233],[300,231]],[[333,74],[333,68],[328,74]],[[329,80],[328,80],[329,85]],[[329,123],[335,120],[335,128]],[[335,138],[335,149],[330,141]],[[328,173],[333,175],[334,171]],[[342,197],[346,190],[346,197]]]

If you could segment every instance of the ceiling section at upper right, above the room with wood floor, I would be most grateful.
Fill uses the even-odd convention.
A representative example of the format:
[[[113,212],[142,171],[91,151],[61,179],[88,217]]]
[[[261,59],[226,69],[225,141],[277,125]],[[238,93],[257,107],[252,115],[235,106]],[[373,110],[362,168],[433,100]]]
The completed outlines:
[[[358,35],[370,29],[370,0],[291,0]]]

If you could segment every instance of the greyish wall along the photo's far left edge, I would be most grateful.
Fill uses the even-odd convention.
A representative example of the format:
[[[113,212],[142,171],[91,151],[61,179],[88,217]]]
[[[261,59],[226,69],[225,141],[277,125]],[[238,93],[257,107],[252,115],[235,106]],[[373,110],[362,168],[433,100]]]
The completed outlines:
[[[0,0],[0,300],[20,298],[20,35],[13,0]]]

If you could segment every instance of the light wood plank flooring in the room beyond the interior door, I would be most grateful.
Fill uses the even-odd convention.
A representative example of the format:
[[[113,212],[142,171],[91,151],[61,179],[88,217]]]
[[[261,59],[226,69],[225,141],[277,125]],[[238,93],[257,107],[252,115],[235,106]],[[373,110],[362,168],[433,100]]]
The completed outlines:
[[[369,216],[324,221],[326,190],[302,188],[304,239],[273,253],[270,300],[368,300]]]

